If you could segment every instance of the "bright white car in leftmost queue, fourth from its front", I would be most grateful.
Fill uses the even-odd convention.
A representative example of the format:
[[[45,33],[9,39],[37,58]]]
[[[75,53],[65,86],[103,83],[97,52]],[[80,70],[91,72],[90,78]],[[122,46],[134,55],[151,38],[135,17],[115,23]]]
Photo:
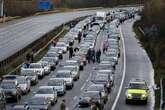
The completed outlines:
[[[43,78],[45,75],[44,68],[42,67],[41,63],[31,63],[29,65],[29,68],[27,68],[27,69],[30,69],[30,70],[33,70],[34,72],[36,72],[38,74],[39,78]]]

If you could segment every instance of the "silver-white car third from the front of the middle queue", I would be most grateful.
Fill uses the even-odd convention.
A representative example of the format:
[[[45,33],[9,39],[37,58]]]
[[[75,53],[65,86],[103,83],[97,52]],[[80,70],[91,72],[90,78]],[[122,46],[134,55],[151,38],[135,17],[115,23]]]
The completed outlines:
[[[53,86],[57,91],[57,95],[64,95],[66,93],[66,84],[63,79],[50,78],[48,86]]]

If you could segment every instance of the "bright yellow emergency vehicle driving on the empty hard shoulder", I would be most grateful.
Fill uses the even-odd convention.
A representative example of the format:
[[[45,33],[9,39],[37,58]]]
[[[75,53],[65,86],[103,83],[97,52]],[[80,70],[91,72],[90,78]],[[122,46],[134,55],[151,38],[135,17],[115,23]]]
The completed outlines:
[[[133,79],[129,82],[126,89],[126,104],[138,101],[147,104],[149,88],[144,80]]]

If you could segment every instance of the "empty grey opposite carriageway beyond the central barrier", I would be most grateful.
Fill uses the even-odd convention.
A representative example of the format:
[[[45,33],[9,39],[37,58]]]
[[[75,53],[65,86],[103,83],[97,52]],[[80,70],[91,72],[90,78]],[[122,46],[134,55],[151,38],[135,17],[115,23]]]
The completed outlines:
[[[95,12],[96,10],[89,10],[47,14],[0,26],[0,61],[26,47],[55,27]]]

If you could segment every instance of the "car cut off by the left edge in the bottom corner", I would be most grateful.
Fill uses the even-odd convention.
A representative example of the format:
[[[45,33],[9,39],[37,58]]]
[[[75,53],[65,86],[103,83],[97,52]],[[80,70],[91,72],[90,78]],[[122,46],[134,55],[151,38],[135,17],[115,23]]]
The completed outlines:
[[[3,89],[0,88],[0,110],[6,110],[6,96]]]

